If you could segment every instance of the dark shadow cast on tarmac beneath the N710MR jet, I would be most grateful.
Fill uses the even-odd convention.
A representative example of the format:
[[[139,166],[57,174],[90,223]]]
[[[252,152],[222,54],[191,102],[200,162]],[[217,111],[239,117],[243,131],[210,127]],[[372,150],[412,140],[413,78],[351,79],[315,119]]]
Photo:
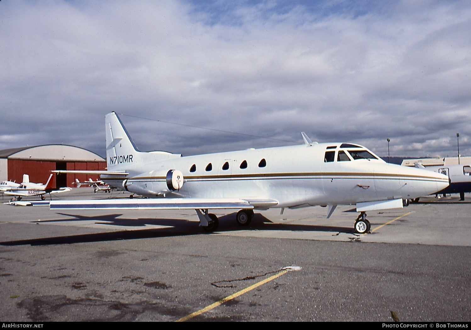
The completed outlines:
[[[156,237],[171,237],[171,236],[189,236],[189,235],[211,235],[209,232],[204,232],[199,228],[197,221],[188,221],[186,219],[160,219],[160,218],[143,218],[143,219],[117,219],[122,214],[111,214],[104,216],[81,216],[73,214],[58,213],[68,217],[67,219],[58,220],[42,220],[32,221],[37,224],[41,223],[55,223],[55,222],[72,222],[72,221],[95,221],[95,224],[122,226],[122,227],[138,227],[142,226],[143,229],[136,230],[122,230],[105,233],[94,234],[81,234],[70,236],[56,236],[34,238],[26,240],[16,240],[0,242],[3,246],[15,245],[54,245],[54,244],[75,244],[75,243],[91,243],[91,242],[107,242],[117,240],[132,240],[143,238],[156,238]],[[145,229],[146,225],[167,226],[165,228],[152,228]],[[334,227],[334,226],[311,226],[311,225],[296,225],[296,224],[283,224],[273,223],[268,218],[261,214],[256,213],[252,222],[248,226],[240,226],[235,223],[235,213],[228,214],[219,218],[219,231],[237,231],[237,230],[286,230],[286,231],[310,231],[310,232],[335,232],[353,234],[353,229],[349,227]]]

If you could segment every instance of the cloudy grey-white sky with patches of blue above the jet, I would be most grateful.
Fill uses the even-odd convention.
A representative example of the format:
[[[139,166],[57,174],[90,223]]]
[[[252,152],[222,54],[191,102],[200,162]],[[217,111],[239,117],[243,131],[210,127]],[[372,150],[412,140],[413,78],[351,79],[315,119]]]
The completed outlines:
[[[0,1],[0,149],[471,156],[471,2]]]

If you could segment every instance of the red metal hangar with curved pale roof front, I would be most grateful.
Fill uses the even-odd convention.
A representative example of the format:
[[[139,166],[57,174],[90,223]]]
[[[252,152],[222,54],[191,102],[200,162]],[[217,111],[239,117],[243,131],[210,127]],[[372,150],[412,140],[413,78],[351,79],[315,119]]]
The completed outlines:
[[[0,150],[0,181],[10,180],[20,183],[23,174],[28,174],[30,182],[46,183],[53,170],[105,170],[106,160],[99,155],[74,146],[48,144]],[[75,179],[97,180],[98,175],[58,174],[49,181],[47,188],[74,187]]]

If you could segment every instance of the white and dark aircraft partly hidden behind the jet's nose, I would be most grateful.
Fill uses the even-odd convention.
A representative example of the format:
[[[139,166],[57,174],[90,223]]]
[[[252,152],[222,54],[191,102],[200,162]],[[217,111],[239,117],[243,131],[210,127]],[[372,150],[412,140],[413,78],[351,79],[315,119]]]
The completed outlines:
[[[471,192],[471,165],[423,166],[415,163],[415,167],[447,175],[450,185],[436,194],[460,194],[460,201],[464,201],[464,193]],[[414,201],[418,201],[418,198]]]

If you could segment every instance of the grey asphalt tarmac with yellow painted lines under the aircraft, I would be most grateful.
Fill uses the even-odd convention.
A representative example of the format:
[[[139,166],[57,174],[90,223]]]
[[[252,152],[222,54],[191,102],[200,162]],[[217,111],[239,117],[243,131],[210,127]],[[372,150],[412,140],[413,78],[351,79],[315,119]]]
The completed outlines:
[[[353,206],[256,212],[247,227],[220,210],[206,233],[193,210],[0,204],[0,322],[469,322],[470,211],[469,194],[422,197],[367,212],[358,235]]]

